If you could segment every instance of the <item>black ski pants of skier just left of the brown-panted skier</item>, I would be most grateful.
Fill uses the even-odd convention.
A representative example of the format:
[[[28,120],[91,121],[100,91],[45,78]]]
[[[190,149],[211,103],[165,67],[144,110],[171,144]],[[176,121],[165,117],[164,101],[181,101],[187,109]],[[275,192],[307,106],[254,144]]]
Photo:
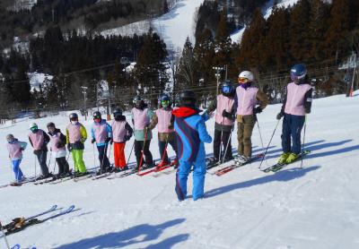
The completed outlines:
[[[222,142],[221,142],[221,137],[222,137]],[[220,155],[221,143],[223,144],[222,154],[224,154],[224,152],[225,152],[224,161],[231,160],[232,159],[231,131],[221,132],[219,130],[215,130],[214,157],[217,160],[219,160],[219,159],[223,160]],[[228,144],[228,148],[227,148],[227,144]],[[225,151],[226,148],[227,148],[227,151]]]

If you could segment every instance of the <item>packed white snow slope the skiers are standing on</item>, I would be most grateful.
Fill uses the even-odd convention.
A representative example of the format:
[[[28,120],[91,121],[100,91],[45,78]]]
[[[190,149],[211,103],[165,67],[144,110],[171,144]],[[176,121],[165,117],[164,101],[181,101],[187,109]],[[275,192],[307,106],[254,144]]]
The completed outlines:
[[[6,224],[53,204],[76,211],[8,236],[11,245],[37,248],[359,248],[359,92],[314,99],[307,117],[305,159],[274,173],[259,171],[259,162],[223,176],[206,175],[206,198],[193,202],[191,175],[188,199],[177,201],[175,175],[127,176],[91,179],[58,185],[22,185],[0,188],[0,220]],[[280,105],[268,106],[258,115],[267,142],[276,127]],[[27,141],[29,123],[46,128],[54,121],[64,132],[67,114],[39,120],[23,118],[0,126],[0,185],[13,180],[4,137],[13,133]],[[81,122],[90,130],[91,121]],[[127,116],[127,120],[129,117]],[[207,123],[214,133],[214,120]],[[281,126],[267,151],[262,167],[276,162],[281,153]],[[236,128],[232,145],[236,148]],[[254,153],[262,151],[258,126],[253,131]],[[133,139],[127,142],[129,155]],[[159,158],[157,136],[151,142]],[[207,154],[213,151],[206,144]],[[170,150],[173,155],[173,151]],[[98,165],[97,151],[85,143],[86,166]],[[111,156],[111,161],[113,157]],[[135,160],[132,154],[130,162]],[[69,160],[73,167],[72,159]],[[22,170],[33,176],[31,146],[24,152]],[[54,167],[51,159],[50,169]],[[39,165],[37,168],[39,172]],[[4,248],[4,239],[0,239]]]

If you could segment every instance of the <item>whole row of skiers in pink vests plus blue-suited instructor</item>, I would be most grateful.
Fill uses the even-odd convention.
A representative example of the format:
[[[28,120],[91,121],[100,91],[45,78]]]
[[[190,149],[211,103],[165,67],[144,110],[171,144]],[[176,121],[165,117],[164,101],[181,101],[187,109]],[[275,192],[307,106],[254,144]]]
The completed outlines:
[[[283,154],[278,159],[279,163],[290,163],[300,156],[302,127],[305,115],[311,112],[312,89],[304,64],[293,66],[291,79],[292,82],[285,89],[285,101],[276,116],[278,122],[284,117],[281,135]],[[94,112],[91,136],[92,144],[96,143],[99,151],[101,169],[98,174],[127,169],[124,149],[132,135],[135,136],[132,147],[132,150],[135,149],[136,155],[135,169],[154,167],[150,143],[153,137],[152,130],[157,125],[158,147],[161,155],[161,162],[157,167],[170,164],[179,167],[176,173],[175,190],[180,201],[187,196],[188,174],[193,167],[193,200],[202,198],[206,175],[204,142],[212,142],[212,137],[206,131],[205,123],[213,116],[214,112],[213,163],[222,163],[233,159],[231,140],[236,121],[238,125],[238,155],[234,159],[239,163],[246,163],[250,162],[252,156],[253,127],[257,122],[257,115],[267,107],[268,100],[267,96],[254,85],[255,78],[250,71],[241,72],[238,83],[238,85],[234,85],[230,81],[223,82],[221,94],[202,115],[200,115],[201,110],[197,108],[197,96],[191,90],[180,92],[177,106],[173,108],[171,107],[171,98],[167,94],[162,94],[159,98],[160,107],[154,112],[147,107],[144,99],[136,96],[133,100],[134,107],[131,110],[134,128],[131,128],[131,125],[127,123],[126,116],[123,116],[122,111],[118,108],[113,112],[114,120],[111,125],[101,118],[100,112]],[[79,123],[75,113],[71,114],[69,119],[70,124],[66,127],[66,135],[61,133],[53,123],[48,123],[48,133],[40,130],[35,123],[30,125],[29,141],[39,160],[40,177],[50,176],[46,164],[48,142],[52,152],[56,153],[57,177],[71,174],[66,159],[66,145],[67,150],[73,156],[74,174],[76,176],[87,174],[83,162],[83,143],[87,139],[86,129]],[[22,181],[23,174],[19,166],[26,142],[19,142],[12,134],[7,135],[6,140],[15,179]],[[112,144],[114,148],[113,168],[110,167],[107,157],[107,150],[111,149]],[[176,153],[173,161],[170,161],[167,155],[168,144]]]

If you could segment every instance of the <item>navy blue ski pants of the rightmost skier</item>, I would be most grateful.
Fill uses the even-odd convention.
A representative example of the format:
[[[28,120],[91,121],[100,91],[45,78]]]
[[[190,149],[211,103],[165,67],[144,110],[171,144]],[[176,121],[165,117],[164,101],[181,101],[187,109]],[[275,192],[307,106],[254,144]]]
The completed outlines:
[[[301,132],[304,125],[305,116],[285,114],[282,129],[282,149],[283,152],[293,152],[299,154],[301,148]],[[291,148],[291,138],[293,146]]]

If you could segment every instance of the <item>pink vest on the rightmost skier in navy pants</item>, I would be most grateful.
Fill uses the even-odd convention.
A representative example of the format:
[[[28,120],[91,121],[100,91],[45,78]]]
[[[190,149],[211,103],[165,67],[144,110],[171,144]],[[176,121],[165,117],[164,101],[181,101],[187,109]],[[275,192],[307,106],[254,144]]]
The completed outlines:
[[[292,82],[287,85],[286,89],[285,113],[296,116],[305,116],[304,96],[308,90],[311,90],[311,85],[297,85]]]

